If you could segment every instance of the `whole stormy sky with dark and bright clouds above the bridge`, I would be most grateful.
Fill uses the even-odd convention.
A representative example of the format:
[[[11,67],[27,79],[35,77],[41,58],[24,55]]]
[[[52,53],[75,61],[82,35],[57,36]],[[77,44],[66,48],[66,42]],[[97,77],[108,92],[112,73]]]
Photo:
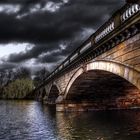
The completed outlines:
[[[124,0],[0,0],[0,71],[52,71]]]

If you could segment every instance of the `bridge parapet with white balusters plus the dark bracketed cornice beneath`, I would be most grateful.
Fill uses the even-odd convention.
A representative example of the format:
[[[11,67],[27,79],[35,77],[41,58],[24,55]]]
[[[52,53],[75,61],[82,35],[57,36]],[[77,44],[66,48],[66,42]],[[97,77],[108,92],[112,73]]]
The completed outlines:
[[[139,32],[135,25],[135,23],[139,23],[139,19],[137,18],[139,17],[139,11],[139,4],[126,4],[67,57],[45,81],[49,82],[52,78],[58,76],[62,71],[69,69],[75,63],[80,64],[79,61],[83,60],[85,56],[88,57],[88,59],[93,59],[112,47],[115,47],[118,43],[131,36],[130,30],[133,32],[133,35]],[[136,21],[134,21],[135,18],[133,18],[135,16]],[[128,29],[129,27],[131,27],[130,30]],[[90,56],[91,54],[92,56]]]

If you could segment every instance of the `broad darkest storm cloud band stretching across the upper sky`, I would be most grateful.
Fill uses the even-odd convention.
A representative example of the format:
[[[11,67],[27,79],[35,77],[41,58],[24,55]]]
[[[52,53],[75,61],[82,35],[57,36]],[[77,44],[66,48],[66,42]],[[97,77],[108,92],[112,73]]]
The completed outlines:
[[[29,1],[20,2],[22,6],[23,3]],[[99,27],[105,17],[119,6],[118,0],[104,0],[102,4],[96,0],[71,0],[54,13],[38,11],[21,19],[17,19],[15,14],[3,13],[0,14],[0,41],[18,40],[36,43],[71,39],[82,27],[95,29]],[[25,8],[27,12],[29,8],[30,6]]]

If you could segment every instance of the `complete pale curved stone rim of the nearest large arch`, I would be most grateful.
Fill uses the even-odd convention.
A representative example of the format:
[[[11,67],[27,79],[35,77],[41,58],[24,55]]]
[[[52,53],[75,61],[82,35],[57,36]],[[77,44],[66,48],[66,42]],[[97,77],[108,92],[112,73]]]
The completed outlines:
[[[106,61],[106,60],[98,60],[98,61],[92,61],[87,63],[86,65],[86,71],[92,71],[92,70],[103,70],[108,71],[110,73],[113,73],[115,75],[118,75],[124,79],[126,79],[128,82],[135,85],[140,90],[140,72],[135,70],[132,67],[126,66],[124,64],[114,62],[114,61]],[[72,86],[73,82],[82,74],[84,73],[84,68],[79,68],[72,76],[70,81],[68,82],[68,85],[65,90],[64,98],[66,98],[70,87]]]

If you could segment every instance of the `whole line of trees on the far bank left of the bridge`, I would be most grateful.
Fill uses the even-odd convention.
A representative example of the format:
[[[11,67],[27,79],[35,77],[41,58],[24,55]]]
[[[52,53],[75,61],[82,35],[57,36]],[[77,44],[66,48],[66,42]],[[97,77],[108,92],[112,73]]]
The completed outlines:
[[[24,67],[1,71],[0,99],[33,98],[33,90],[43,82],[47,75],[48,71],[45,68],[37,71],[34,75]]]

